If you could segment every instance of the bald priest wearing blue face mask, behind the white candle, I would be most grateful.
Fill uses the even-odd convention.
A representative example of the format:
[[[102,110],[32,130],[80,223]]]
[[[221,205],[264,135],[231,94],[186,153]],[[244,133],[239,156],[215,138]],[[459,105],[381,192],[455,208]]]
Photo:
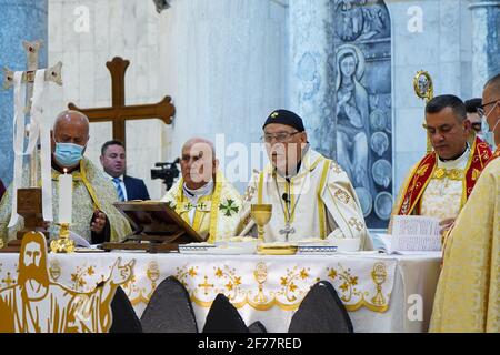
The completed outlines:
[[[89,120],[78,111],[63,111],[56,119],[52,131],[52,182],[66,169],[73,180],[72,224],[70,230],[91,244],[119,241],[131,233],[130,224],[112,205],[117,192],[90,160],[83,158],[89,141]],[[52,183],[52,211],[59,215],[58,184]],[[23,219],[11,220],[12,185],[0,203],[0,237],[3,242],[16,239],[23,227]],[[10,225],[9,225],[10,224]],[[59,226],[48,224],[51,236],[58,235]]]

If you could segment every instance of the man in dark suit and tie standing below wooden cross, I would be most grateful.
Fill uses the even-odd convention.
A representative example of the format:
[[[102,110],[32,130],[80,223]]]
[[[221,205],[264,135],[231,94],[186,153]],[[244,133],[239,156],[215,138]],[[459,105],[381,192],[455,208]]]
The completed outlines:
[[[124,175],[127,156],[123,143],[108,141],[101,148],[101,164],[104,175],[112,181],[119,201],[150,200],[148,189],[140,179]]]

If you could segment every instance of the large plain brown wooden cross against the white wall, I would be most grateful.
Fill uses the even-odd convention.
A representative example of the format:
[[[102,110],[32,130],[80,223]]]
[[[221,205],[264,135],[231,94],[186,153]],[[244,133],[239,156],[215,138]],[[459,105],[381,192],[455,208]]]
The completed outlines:
[[[164,97],[158,103],[126,105],[124,75],[130,61],[120,57],[114,57],[112,61],[106,62],[111,73],[111,95],[110,108],[80,109],[70,102],[68,108],[84,113],[90,122],[112,122],[113,139],[126,144],[126,121],[160,119],[166,124],[172,122],[176,108],[171,104],[171,98]]]

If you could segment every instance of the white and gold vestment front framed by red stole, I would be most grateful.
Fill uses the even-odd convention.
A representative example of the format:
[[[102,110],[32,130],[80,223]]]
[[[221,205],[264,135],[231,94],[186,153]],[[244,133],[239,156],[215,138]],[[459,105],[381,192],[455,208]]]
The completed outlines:
[[[438,166],[422,194],[420,214],[440,220],[456,219],[462,207],[466,186],[463,174],[470,158],[470,149],[452,161],[437,160]]]

